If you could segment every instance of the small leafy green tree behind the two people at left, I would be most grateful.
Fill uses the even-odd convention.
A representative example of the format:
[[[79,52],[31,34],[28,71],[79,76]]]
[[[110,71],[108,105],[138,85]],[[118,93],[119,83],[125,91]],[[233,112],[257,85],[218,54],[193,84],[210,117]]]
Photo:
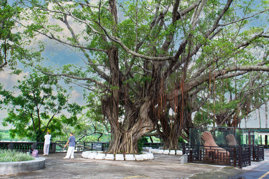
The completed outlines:
[[[0,102],[8,106],[8,116],[3,119],[3,125],[10,123],[14,126],[9,130],[11,138],[17,135],[39,142],[44,140],[43,135],[48,129],[60,135],[61,122],[71,126],[76,123],[82,107],[68,103],[69,94],[57,84],[57,78],[33,72],[18,83],[14,87],[18,91],[0,90],[3,96]],[[61,122],[56,118],[59,114]]]

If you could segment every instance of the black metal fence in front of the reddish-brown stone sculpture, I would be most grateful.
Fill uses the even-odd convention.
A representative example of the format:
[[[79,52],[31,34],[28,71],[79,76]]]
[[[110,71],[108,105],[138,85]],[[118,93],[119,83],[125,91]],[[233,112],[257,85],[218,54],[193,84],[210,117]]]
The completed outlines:
[[[207,163],[234,167],[251,165],[251,147],[212,147],[183,145],[183,155],[188,155],[190,163]]]

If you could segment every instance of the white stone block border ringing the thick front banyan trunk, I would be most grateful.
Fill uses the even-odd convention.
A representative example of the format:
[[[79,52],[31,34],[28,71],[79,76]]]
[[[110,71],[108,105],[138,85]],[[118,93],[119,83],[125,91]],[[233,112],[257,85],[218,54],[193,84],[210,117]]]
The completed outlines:
[[[97,160],[115,160],[115,161],[144,161],[153,160],[153,154],[150,152],[142,152],[140,155],[134,154],[106,154],[103,151],[85,151],[81,156],[88,159]]]

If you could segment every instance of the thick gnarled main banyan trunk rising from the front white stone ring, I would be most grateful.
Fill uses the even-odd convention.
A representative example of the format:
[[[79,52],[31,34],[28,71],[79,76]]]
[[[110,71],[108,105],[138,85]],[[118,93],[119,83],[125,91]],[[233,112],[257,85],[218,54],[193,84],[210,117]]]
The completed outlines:
[[[111,143],[108,152],[113,154],[137,154],[137,140],[145,132],[153,129],[153,123],[147,114],[151,98],[145,98],[144,102],[136,107],[133,106],[133,103],[127,101],[124,104],[125,119],[119,121],[119,99],[126,95],[127,89],[124,89],[120,81],[118,49],[112,46],[108,56],[113,88],[111,95],[107,95],[107,98],[102,101],[104,115],[109,119],[111,125]]]

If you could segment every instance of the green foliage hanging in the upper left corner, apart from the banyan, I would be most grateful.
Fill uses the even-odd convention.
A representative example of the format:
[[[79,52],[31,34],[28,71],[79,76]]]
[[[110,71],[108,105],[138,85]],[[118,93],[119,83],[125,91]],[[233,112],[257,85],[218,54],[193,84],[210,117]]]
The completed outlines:
[[[16,20],[20,18],[21,10],[18,2],[11,3],[7,0],[0,0],[0,70],[7,65],[14,74],[21,72],[17,69],[18,60],[30,57],[29,50],[23,48],[23,45],[27,44],[27,40],[22,40],[21,32],[16,30]]]

